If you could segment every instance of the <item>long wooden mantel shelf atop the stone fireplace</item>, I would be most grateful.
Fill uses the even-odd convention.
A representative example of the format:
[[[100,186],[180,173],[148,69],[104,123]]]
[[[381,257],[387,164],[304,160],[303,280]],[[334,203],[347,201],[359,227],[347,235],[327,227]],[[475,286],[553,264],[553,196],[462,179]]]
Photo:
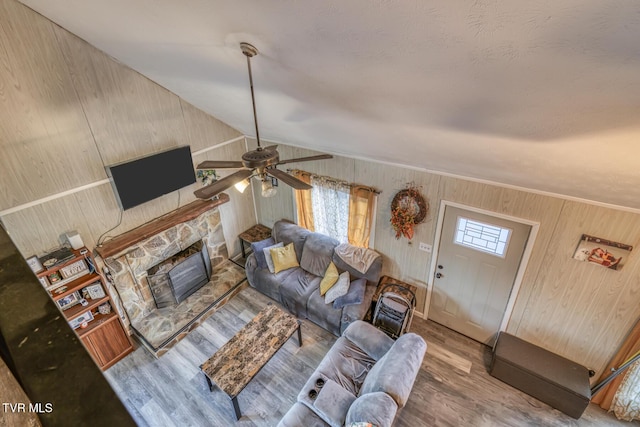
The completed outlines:
[[[96,247],[96,252],[103,259],[108,258],[118,252],[135,245],[151,236],[154,236],[164,230],[173,227],[176,224],[190,221],[200,216],[200,214],[220,206],[229,201],[229,195],[220,193],[217,199],[213,200],[196,200],[173,212],[169,212],[159,218],[142,224],[140,227],[129,230],[111,240],[106,241],[102,245]]]

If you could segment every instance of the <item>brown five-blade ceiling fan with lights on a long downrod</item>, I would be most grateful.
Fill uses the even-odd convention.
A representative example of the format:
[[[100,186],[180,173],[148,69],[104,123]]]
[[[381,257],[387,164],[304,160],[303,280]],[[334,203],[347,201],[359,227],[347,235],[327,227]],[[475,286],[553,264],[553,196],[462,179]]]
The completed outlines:
[[[242,160],[207,160],[200,163],[196,168],[207,169],[240,169],[212,184],[204,186],[193,194],[199,199],[210,199],[227,188],[235,185],[241,191],[249,185],[250,178],[257,178],[262,182],[262,196],[270,197],[276,192],[273,188],[271,177],[279,179],[296,190],[308,190],[309,184],[289,175],[288,173],[276,169],[277,165],[293,162],[308,162],[311,160],[322,160],[333,158],[330,154],[319,154],[316,156],[299,157],[297,159],[280,160],[277,145],[262,147],[260,145],[260,133],[258,131],[258,116],[256,115],[256,100],[253,93],[253,77],[251,76],[251,58],[258,54],[258,50],[249,43],[240,43],[242,53],[247,57],[247,68],[249,70],[249,85],[251,86],[251,103],[253,105],[253,121],[256,127],[256,140],[258,148],[247,151],[242,155]]]

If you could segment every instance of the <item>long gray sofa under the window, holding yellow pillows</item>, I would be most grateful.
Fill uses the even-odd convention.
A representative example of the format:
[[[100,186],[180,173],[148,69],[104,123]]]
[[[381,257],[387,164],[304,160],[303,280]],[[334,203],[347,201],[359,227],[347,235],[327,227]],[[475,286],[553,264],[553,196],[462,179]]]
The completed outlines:
[[[295,316],[309,319],[336,336],[340,336],[354,320],[364,318],[380,279],[382,257],[379,254],[369,252],[368,255],[373,253],[375,256],[374,261],[366,271],[360,272],[335,254],[334,249],[339,242],[331,237],[313,233],[287,221],[274,224],[272,237],[276,243],[282,242],[284,245],[293,242],[300,267],[273,274],[267,268],[258,266],[256,254],[253,253],[245,264],[249,285],[280,302]],[[319,287],[330,262],[335,264],[338,272],[348,271],[351,280],[366,280],[364,297],[360,303],[342,308],[325,303]]]

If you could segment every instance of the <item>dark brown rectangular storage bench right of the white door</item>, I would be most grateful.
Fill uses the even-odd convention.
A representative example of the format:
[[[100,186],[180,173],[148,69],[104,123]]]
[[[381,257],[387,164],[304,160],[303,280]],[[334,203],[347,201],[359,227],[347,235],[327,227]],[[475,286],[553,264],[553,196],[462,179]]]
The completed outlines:
[[[489,373],[576,419],[591,400],[587,368],[505,332]]]

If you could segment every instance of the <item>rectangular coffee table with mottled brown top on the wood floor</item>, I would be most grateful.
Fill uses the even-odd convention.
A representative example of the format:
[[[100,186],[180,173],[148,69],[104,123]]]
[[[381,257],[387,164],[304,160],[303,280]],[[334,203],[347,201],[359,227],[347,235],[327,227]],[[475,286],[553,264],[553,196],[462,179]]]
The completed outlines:
[[[269,304],[200,366],[209,390],[215,384],[229,396],[236,420],[242,416],[238,394],[296,330],[302,346],[300,321]]]

